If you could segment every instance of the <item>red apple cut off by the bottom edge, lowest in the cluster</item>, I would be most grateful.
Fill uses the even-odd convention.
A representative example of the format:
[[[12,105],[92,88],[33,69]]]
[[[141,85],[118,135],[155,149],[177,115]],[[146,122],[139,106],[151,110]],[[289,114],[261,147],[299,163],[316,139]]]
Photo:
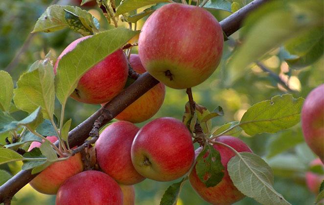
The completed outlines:
[[[57,192],[55,205],[123,205],[123,194],[113,178],[90,170],[66,180]]]

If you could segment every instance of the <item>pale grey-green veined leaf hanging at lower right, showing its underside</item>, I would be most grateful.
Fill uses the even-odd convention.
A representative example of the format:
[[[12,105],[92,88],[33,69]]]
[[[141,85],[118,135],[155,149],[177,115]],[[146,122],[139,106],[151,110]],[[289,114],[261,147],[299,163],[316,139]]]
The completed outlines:
[[[228,163],[233,184],[244,195],[263,205],[290,205],[273,188],[274,176],[270,166],[259,156],[240,152]]]

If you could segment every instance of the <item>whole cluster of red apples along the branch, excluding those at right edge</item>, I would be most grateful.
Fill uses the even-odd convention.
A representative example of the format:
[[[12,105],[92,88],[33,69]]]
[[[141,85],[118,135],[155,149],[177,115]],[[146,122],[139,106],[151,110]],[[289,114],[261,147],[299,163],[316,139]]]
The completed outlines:
[[[182,15],[173,15],[179,11]],[[69,44],[55,62],[55,73],[60,69],[60,59],[87,38],[90,36]],[[116,50],[87,71],[70,96],[104,106],[125,88],[129,64],[135,72],[147,71],[160,81],[118,114],[116,119],[120,121],[100,133],[94,145],[99,171],[83,171],[81,156],[76,154],[51,164],[30,184],[39,192],[57,194],[56,205],[134,205],[134,184],[146,178],[173,181],[187,174],[198,195],[213,205],[230,205],[243,199],[227,171],[227,163],[235,155],[230,148],[213,144],[220,153],[225,176],[216,186],[206,187],[194,164],[202,147],[194,150],[191,132],[184,123],[162,117],[141,128],[133,124],[156,114],[164,100],[165,85],[184,89],[204,82],[220,62],[223,43],[219,22],[203,8],[169,3],[156,10],[142,27],[139,54],[127,59],[121,48]],[[54,136],[47,138],[57,140]],[[252,152],[231,136],[215,141],[238,152]],[[30,149],[40,145],[32,143]]]

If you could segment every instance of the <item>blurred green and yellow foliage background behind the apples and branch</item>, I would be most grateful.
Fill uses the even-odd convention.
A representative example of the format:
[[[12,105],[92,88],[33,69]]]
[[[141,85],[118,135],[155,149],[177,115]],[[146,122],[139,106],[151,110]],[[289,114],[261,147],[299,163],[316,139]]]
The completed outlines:
[[[80,34],[74,33],[68,28],[54,33],[30,34],[35,22],[51,2],[49,0],[0,1],[0,69],[11,74],[14,84],[33,62],[43,59],[48,51],[51,51],[57,57],[70,42],[81,37]],[[74,0],[60,0],[57,3],[76,5]],[[97,7],[83,8],[91,12],[99,20],[100,30],[111,28]],[[213,15],[221,21],[230,13],[215,10]],[[144,20],[138,22],[138,29],[140,29],[143,22]],[[126,25],[122,22],[119,22],[119,24],[120,26]],[[240,121],[244,112],[251,105],[270,100],[275,95],[291,93],[295,98],[306,98],[313,88],[324,82],[323,57],[311,66],[293,70],[282,60],[282,50],[278,48],[267,54],[261,62],[287,82],[292,91],[288,92],[257,65],[244,72],[235,71],[239,77],[229,84],[227,82],[226,63],[233,51],[233,42],[239,36],[240,33],[236,32],[231,35],[231,41],[225,42],[223,60],[214,74],[206,82],[192,88],[193,97],[197,103],[204,105],[209,110],[213,110],[218,105],[223,108],[225,115],[213,119],[213,126],[220,126],[231,121]],[[19,52],[22,52],[21,55],[19,55]],[[137,48],[135,47],[132,52],[137,53]],[[19,55],[18,58],[17,55]],[[162,116],[181,120],[185,102],[187,102],[185,90],[166,88],[163,105],[150,120]],[[100,105],[84,104],[69,99],[65,118],[72,119],[71,127],[73,128],[92,115],[99,107]],[[55,106],[57,116],[60,115],[60,109],[60,104],[57,102]],[[23,111],[13,113],[17,120],[23,119],[26,115],[27,113]],[[141,127],[145,123],[147,122],[137,125]],[[271,154],[270,152],[275,150],[271,143],[285,136],[296,141],[296,145],[280,154]],[[5,135],[0,135],[1,144],[4,143],[5,137]],[[271,165],[275,173],[274,187],[288,202],[293,205],[313,204],[315,196],[305,186],[304,172],[307,170],[307,164],[315,159],[315,155],[303,142],[300,124],[290,130],[280,131],[276,134],[265,133],[249,137],[241,133],[239,138]],[[9,163],[0,165],[0,169],[5,169],[14,175],[20,170],[21,165],[21,163]],[[136,184],[136,204],[158,205],[164,191],[172,183],[174,182],[161,183],[145,180]],[[15,195],[12,205],[31,204],[54,205],[55,196],[40,194],[29,185],[26,185]],[[178,205],[208,205],[208,203],[200,199],[187,182],[181,191]],[[244,200],[235,203],[235,205],[258,205],[258,203],[246,197]]]

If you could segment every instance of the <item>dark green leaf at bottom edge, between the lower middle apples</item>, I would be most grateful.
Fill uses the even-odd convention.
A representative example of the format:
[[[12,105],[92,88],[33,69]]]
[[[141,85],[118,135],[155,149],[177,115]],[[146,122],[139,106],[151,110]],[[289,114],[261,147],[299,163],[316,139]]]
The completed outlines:
[[[180,182],[171,184],[164,192],[160,205],[177,205],[180,190],[187,180],[188,177],[184,177]]]

